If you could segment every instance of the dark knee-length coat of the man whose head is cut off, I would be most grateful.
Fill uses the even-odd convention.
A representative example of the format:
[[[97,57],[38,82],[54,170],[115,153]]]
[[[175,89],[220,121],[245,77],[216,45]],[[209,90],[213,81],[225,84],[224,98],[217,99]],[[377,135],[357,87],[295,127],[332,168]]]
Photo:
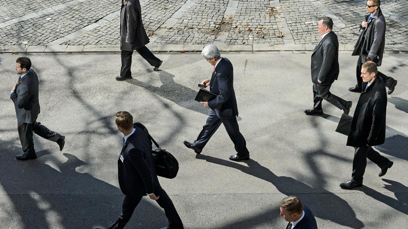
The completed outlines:
[[[122,1],[122,9],[120,10],[120,50],[133,51],[148,43],[149,37],[147,37],[144,30],[139,0]]]

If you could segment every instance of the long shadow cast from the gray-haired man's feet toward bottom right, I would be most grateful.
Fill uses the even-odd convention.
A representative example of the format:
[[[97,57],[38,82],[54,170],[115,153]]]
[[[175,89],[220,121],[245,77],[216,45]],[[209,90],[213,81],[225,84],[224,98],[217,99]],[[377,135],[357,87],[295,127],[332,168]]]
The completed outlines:
[[[217,165],[223,165],[227,167],[231,167],[237,170],[240,170],[248,175],[255,176],[260,178],[264,181],[272,183],[278,189],[279,192],[289,196],[289,195],[297,195],[304,200],[304,203],[308,205],[313,210],[313,214],[322,219],[330,220],[332,222],[338,223],[340,225],[348,226],[355,229],[360,229],[364,227],[364,224],[358,220],[355,216],[353,209],[348,205],[348,203],[336,196],[333,193],[330,193],[327,190],[315,189],[306,185],[301,181],[297,181],[294,178],[288,176],[277,176],[268,168],[260,165],[258,162],[250,159],[248,161],[243,161],[248,165],[244,166],[239,163],[226,161],[223,159],[218,159],[212,156],[206,156],[202,154],[197,154],[196,159],[206,160],[210,163],[214,163]],[[309,200],[306,194],[319,194],[318,198],[321,198],[319,201]],[[323,197],[323,198],[322,198]],[[335,206],[335,207],[334,207]],[[324,209],[330,209],[330,211],[325,211]],[[265,217],[268,214],[268,217]],[[265,222],[265,220],[270,220],[270,212],[261,214],[254,218],[251,216],[251,219],[243,219],[243,220],[254,220],[256,222]],[[277,213],[279,214],[279,213]],[[339,217],[341,216],[341,217]],[[282,222],[282,227],[286,224]],[[225,228],[234,228],[234,227],[225,227]],[[239,227],[239,228],[253,228],[253,227]]]

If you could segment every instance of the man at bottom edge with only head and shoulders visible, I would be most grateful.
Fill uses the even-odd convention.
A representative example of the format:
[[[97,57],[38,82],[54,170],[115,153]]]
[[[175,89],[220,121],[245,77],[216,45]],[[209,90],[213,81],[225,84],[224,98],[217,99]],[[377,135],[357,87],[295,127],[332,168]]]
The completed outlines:
[[[288,223],[286,229],[317,229],[312,211],[297,196],[288,196],[279,202],[280,216]]]

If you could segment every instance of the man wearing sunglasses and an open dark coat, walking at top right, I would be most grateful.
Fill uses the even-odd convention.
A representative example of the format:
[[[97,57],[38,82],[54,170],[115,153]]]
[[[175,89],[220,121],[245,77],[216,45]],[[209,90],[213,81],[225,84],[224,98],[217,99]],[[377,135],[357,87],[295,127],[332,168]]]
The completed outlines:
[[[348,88],[351,92],[361,92],[361,65],[366,61],[373,61],[377,66],[381,66],[384,46],[386,22],[380,9],[380,0],[368,0],[366,6],[368,15],[365,21],[360,25],[360,36],[354,46],[353,56],[359,56],[356,68],[357,84],[355,87]],[[397,80],[378,72],[378,76],[384,81],[388,88],[388,95],[391,95],[397,85]]]

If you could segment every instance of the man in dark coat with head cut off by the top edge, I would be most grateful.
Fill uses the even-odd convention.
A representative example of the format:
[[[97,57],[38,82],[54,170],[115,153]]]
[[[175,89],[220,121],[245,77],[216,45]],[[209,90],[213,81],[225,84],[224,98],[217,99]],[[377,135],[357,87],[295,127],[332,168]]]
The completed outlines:
[[[139,0],[123,0],[120,10],[120,50],[122,67],[116,80],[132,79],[131,64],[133,50],[136,50],[144,59],[159,70],[162,61],[155,57],[145,46],[149,43],[142,21],[142,9]]]

